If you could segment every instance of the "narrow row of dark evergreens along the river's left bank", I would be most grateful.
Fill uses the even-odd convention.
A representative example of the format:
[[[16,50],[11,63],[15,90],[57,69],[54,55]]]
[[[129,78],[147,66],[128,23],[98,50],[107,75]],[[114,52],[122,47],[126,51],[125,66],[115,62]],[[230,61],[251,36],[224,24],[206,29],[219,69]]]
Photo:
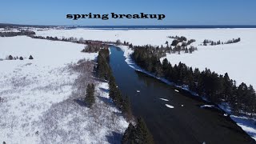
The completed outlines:
[[[97,59],[98,64],[96,67],[98,78],[105,79],[109,82],[110,98],[113,100],[118,109],[122,111],[122,114],[124,114],[126,118],[131,119],[133,116],[130,108],[129,98],[127,96],[124,97],[121,93],[121,90],[119,90],[115,82],[112,70],[109,66],[109,61],[110,51],[108,49],[99,50]],[[146,127],[146,123],[143,121],[143,119],[138,118],[136,123],[137,124],[135,126],[130,123],[125,131],[125,134],[123,135],[122,143],[154,143],[153,137],[150,134],[150,130],[148,130]]]

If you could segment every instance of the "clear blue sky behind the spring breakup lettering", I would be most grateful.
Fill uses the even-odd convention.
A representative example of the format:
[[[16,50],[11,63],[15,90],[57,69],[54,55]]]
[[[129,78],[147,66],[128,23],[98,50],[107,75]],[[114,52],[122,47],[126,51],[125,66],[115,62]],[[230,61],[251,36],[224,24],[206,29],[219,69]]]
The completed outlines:
[[[1,0],[0,23],[34,25],[256,25],[256,0]],[[156,19],[66,19],[66,14],[165,14]]]

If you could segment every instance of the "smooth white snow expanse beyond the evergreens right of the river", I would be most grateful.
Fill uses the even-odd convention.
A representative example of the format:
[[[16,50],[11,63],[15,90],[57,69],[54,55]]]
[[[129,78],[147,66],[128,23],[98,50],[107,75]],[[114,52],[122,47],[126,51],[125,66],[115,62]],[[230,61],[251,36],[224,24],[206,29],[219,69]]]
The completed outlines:
[[[254,53],[256,42],[254,37],[256,29],[173,29],[173,30],[44,30],[36,31],[42,36],[57,36],[58,38],[76,37],[102,41],[132,42],[134,45],[151,44],[153,46],[165,46],[166,41],[171,43],[173,39],[167,36],[185,36],[195,39],[192,46],[197,46],[198,51],[193,54],[167,54],[172,64],[184,62],[187,66],[198,67],[204,70],[206,67],[218,74],[230,75],[230,78],[239,83],[246,82],[256,87],[256,69],[254,69]],[[232,38],[241,38],[241,42],[219,45],[198,46],[204,39],[226,42]]]

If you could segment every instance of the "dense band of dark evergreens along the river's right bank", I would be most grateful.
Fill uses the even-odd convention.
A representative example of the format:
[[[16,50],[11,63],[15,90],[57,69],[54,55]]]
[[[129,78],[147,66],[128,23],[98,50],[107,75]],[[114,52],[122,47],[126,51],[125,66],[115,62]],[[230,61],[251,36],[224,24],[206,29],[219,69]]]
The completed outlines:
[[[211,102],[227,102],[234,114],[255,114],[256,94],[253,86],[246,86],[243,82],[237,86],[227,73],[217,74],[209,69],[199,71],[181,62],[172,66],[166,58],[161,63],[152,51],[149,47],[135,47],[132,58],[143,69],[170,82],[186,85]]]

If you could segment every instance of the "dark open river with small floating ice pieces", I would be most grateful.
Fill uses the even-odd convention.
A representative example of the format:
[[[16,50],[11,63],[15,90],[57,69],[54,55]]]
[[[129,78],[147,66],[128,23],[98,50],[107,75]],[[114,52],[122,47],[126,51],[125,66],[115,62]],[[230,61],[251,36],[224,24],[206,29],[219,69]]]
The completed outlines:
[[[110,46],[110,50],[110,66],[118,87],[122,94],[129,96],[134,115],[145,119],[156,143],[254,142],[223,114],[202,109],[199,106],[203,102],[175,92],[156,78],[136,72],[125,62],[122,50],[115,46]]]

